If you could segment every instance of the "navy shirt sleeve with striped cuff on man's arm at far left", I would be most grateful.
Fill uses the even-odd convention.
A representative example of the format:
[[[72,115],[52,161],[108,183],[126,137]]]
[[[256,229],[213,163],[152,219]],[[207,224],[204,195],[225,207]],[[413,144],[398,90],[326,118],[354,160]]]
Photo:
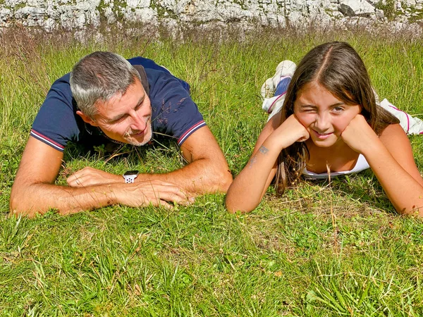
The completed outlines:
[[[69,74],[51,86],[34,123],[30,135],[45,144],[63,151],[69,141],[78,140],[79,128],[75,118]]]

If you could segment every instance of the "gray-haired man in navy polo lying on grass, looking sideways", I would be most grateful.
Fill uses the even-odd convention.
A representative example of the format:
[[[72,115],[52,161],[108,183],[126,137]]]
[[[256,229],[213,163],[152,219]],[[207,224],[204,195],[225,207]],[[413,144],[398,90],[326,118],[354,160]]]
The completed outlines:
[[[144,66],[144,67],[142,67]],[[178,139],[188,165],[164,174],[113,175],[83,168],[54,185],[68,142],[111,140],[141,146],[153,134]],[[170,207],[226,192],[228,164],[189,94],[189,85],[147,58],[110,52],[82,58],[52,85],[32,125],[11,190],[11,213],[66,215],[123,204]]]

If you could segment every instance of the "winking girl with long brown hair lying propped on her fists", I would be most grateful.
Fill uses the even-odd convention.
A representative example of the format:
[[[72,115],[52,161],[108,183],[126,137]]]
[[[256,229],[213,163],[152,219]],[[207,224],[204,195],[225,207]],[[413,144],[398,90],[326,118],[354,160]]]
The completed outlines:
[[[275,175],[276,189],[283,193],[301,175],[322,178],[372,168],[398,213],[423,216],[423,179],[410,142],[398,119],[376,106],[369,75],[353,47],[321,44],[293,74],[295,64],[285,63],[269,79],[280,81],[278,94],[292,75],[281,111],[266,123],[249,163],[228,189],[226,208],[255,209]]]

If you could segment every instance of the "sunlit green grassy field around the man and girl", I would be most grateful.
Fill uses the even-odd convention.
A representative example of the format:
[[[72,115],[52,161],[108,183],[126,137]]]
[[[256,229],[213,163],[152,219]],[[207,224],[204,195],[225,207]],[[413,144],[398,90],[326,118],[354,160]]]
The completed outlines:
[[[130,35],[128,35],[130,34]],[[371,172],[269,189],[247,215],[223,195],[171,211],[111,206],[74,216],[8,217],[8,199],[32,120],[54,80],[95,50],[145,56],[190,82],[233,175],[266,114],[259,87],[283,59],[350,42],[382,98],[423,118],[423,39],[404,32],[263,30],[0,35],[0,316],[422,316],[423,223],[398,216]],[[410,137],[423,171],[423,139]],[[111,157],[70,147],[66,176],[164,173],[183,166],[168,139]]]

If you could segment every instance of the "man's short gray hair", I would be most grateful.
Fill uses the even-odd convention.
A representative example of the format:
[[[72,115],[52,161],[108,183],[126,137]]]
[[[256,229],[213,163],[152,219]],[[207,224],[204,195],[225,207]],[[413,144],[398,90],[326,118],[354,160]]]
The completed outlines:
[[[73,66],[71,90],[82,113],[93,118],[95,103],[109,101],[116,94],[125,94],[140,74],[128,61],[109,51],[95,51]]]

